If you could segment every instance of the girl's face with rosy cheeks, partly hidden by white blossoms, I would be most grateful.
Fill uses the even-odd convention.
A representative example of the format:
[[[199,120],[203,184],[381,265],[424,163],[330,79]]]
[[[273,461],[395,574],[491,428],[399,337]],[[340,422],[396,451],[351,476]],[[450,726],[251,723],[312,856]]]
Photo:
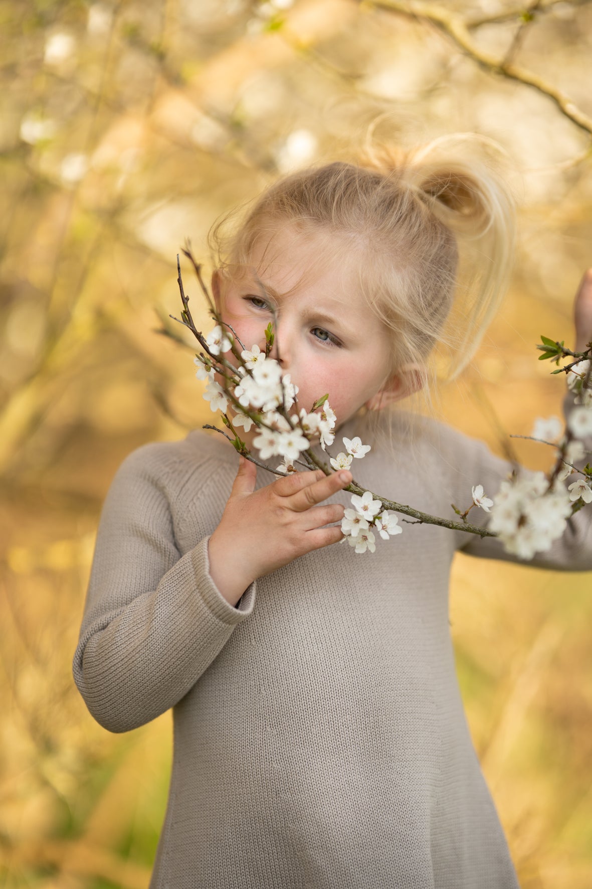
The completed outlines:
[[[384,383],[390,349],[388,335],[380,320],[364,307],[347,267],[341,276],[343,263],[335,268],[321,266],[310,280],[298,284],[289,296],[283,296],[298,282],[308,261],[318,259],[315,236],[305,238],[284,228],[275,236],[272,247],[271,261],[266,256],[260,264],[262,246],[255,247],[251,258],[277,313],[276,340],[269,357],[277,359],[279,344],[282,369],[290,373],[291,382],[299,388],[299,412],[302,407],[309,412],[317,398],[329,393],[327,400],[339,428]],[[229,282],[214,272],[212,292],[220,316],[235,329],[244,348],[250,350],[256,343],[264,352],[264,331],[273,322],[273,316],[260,296],[254,276],[250,277],[248,272],[249,269],[241,282]],[[347,284],[348,277],[351,286]],[[231,352],[224,356],[237,364]],[[215,379],[223,383],[218,374]],[[295,407],[292,405],[291,412]],[[249,436],[243,436],[243,429],[240,432],[244,439],[256,434],[254,428]]]

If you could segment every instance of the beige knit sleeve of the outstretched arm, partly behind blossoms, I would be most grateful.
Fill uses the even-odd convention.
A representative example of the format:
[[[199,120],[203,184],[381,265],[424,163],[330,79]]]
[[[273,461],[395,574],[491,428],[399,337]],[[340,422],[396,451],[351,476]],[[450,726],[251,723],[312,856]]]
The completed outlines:
[[[564,419],[567,420],[574,406],[573,395],[567,391],[563,401]],[[508,478],[512,471],[512,464],[502,460],[493,454],[484,442],[477,439],[469,439],[470,447],[462,453],[462,481],[464,492],[461,502],[467,501],[471,494],[471,485],[483,485],[484,494],[491,500],[500,490],[500,484]],[[584,447],[589,452],[592,450],[592,436],[584,439]],[[540,445],[541,447],[544,445]],[[586,465],[590,457],[576,461],[573,465],[580,469]],[[549,460],[549,463],[551,461]],[[534,472],[521,467],[521,477],[532,477]],[[565,479],[564,484],[570,485],[581,478],[572,473]],[[470,502],[470,499],[469,501]],[[473,507],[468,514],[468,521],[480,527],[486,527],[491,514]],[[564,534],[553,541],[550,549],[535,553],[532,559],[523,559],[512,555],[503,548],[499,538],[483,537],[476,534],[458,532],[460,546],[457,548],[468,556],[502,559],[506,562],[515,562],[519,565],[532,565],[537,568],[551,568],[556,571],[592,571],[592,507],[585,506],[572,517],[567,519]]]

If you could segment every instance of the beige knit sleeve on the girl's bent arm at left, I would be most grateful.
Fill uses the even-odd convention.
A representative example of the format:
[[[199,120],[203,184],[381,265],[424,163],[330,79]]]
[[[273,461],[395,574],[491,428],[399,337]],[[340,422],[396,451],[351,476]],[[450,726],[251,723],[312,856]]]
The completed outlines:
[[[111,732],[180,701],[255,601],[256,581],[237,608],[222,597],[209,574],[208,536],[181,557],[169,497],[183,468],[165,453],[159,444],[131,453],[100,516],[73,673],[92,716]]]

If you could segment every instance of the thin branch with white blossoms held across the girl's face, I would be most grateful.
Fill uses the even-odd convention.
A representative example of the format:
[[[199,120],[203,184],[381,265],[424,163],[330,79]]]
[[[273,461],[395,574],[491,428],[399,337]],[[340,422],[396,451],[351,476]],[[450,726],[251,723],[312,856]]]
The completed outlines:
[[[188,309],[188,297],[185,295],[182,284],[178,256],[178,283],[183,302],[182,321],[180,323],[185,324],[194,333],[208,353],[209,357],[206,357],[204,353],[200,353],[199,357],[196,356],[196,364],[203,365],[196,375],[200,377],[200,374],[204,374],[204,376],[207,375],[209,377],[210,381],[204,397],[206,400],[211,401],[210,407],[212,410],[220,409],[225,425],[232,431],[235,437],[234,439],[230,438],[221,429],[210,424],[204,424],[203,428],[213,429],[220,435],[225,436],[238,453],[241,453],[247,460],[255,463],[261,469],[268,469],[276,476],[285,476],[289,472],[296,471],[293,465],[294,462],[305,469],[321,469],[325,475],[331,475],[332,470],[312,452],[309,445],[317,430],[320,431],[321,446],[325,451],[325,445],[332,444],[334,433],[331,432],[331,429],[335,425],[335,414],[332,412],[329,404],[325,404],[328,395],[317,399],[308,414],[304,409],[301,412],[297,412],[296,416],[288,414],[292,404],[298,404],[296,397],[298,387],[289,382],[289,374],[282,375],[281,359],[276,360],[268,357],[275,340],[273,326],[276,326],[276,311],[259,277],[257,277],[257,282],[263,294],[262,299],[268,302],[272,310],[274,325],[268,324],[268,328],[265,331],[265,354],[260,352],[260,348],[257,345],[252,346],[252,351],[243,348],[243,351],[239,354],[235,340],[238,342],[240,340],[234,331],[232,337],[224,333],[222,325],[224,324],[228,328],[230,328],[230,325],[223,322],[221,316],[212,305],[210,295],[201,277],[200,264],[193,258],[189,249],[183,252],[188,256],[196,270],[202,291],[210,302],[212,317],[217,324],[206,339],[204,339],[201,332],[196,330]],[[179,319],[175,318],[174,320]],[[232,328],[230,329],[232,330]],[[582,339],[580,337],[578,343],[581,343]],[[366,549],[374,551],[374,534],[371,528],[378,530],[380,536],[385,540],[388,540],[389,534],[401,533],[403,529],[396,524],[396,517],[388,515],[390,511],[411,517],[414,521],[409,524],[413,525],[418,523],[439,525],[450,528],[453,531],[478,534],[481,538],[501,537],[508,552],[514,552],[528,558],[532,557],[534,552],[540,549],[548,549],[551,542],[563,533],[567,517],[572,516],[578,509],[582,509],[585,502],[592,501],[592,485],[588,484],[588,477],[590,482],[592,482],[592,467],[587,466],[585,469],[580,470],[572,463],[580,455],[577,453],[578,449],[581,449],[582,453],[586,453],[583,451],[582,443],[577,440],[579,434],[586,434],[588,431],[592,431],[592,410],[588,410],[588,406],[592,408],[592,392],[589,391],[590,382],[592,381],[592,340],[588,342],[588,348],[581,351],[572,351],[569,348],[565,348],[564,340],[560,342],[559,340],[551,340],[544,336],[541,337],[541,340],[542,345],[537,346],[543,352],[540,355],[540,360],[551,359],[552,362],[558,364],[559,359],[562,357],[572,356],[575,358],[570,364],[558,367],[553,373],[565,372],[569,374],[571,372],[571,377],[567,377],[568,384],[570,388],[575,388],[578,392],[581,392],[581,404],[583,405],[578,409],[579,413],[574,412],[570,416],[566,434],[562,441],[556,445],[558,456],[550,479],[544,477],[543,473],[538,473],[530,479],[520,478],[518,469],[515,466],[511,475],[508,476],[508,480],[501,483],[500,492],[496,494],[495,504],[484,496],[482,485],[473,487],[472,503],[464,512],[461,512],[454,503],[451,503],[454,512],[460,516],[460,521],[456,521],[432,516],[422,512],[420,509],[414,509],[408,504],[382,498],[364,488],[352,477],[350,484],[343,490],[351,493],[351,501],[356,507],[356,511],[354,509],[345,510],[341,530],[344,533],[344,540],[348,537],[349,543],[356,547],[356,552],[365,552]],[[230,349],[232,349],[233,355],[239,362],[238,373],[235,365],[230,364],[226,359],[219,356],[220,352]],[[279,348],[276,351],[279,356]],[[590,360],[587,360],[587,356],[591,356]],[[223,368],[220,369],[219,362],[228,367],[231,373],[227,374]],[[220,372],[220,375],[223,377],[223,388],[213,380],[214,372],[216,371]],[[204,376],[200,378],[203,379]],[[234,392],[230,391],[231,386],[235,388]],[[236,397],[237,395],[240,397]],[[588,396],[590,397],[588,398]],[[289,398],[289,404],[286,403],[287,398]],[[284,467],[270,469],[265,463],[252,456],[249,448],[238,436],[236,428],[233,426],[233,421],[230,420],[225,412],[228,400],[236,407],[237,416],[233,418],[236,425],[240,425],[237,421],[242,416],[243,425],[244,417],[248,417],[256,426],[268,429],[268,435],[265,436],[262,433],[259,439],[255,439],[255,445],[264,457],[281,454],[284,459]],[[249,407],[253,406],[258,409],[249,410]],[[315,413],[318,408],[322,408],[320,415]],[[285,427],[282,426],[279,420],[284,421]],[[297,430],[297,427],[300,427],[300,431]],[[551,444],[545,441],[543,435],[544,433],[540,432],[539,436],[537,436],[535,430],[535,435],[533,436],[511,437],[531,437],[534,440],[542,441],[544,444]],[[551,435],[552,433],[549,432],[548,436]],[[574,441],[574,439],[576,440]],[[364,454],[370,450],[370,445],[362,445],[362,442],[357,437],[353,440],[344,437],[343,442],[348,450],[348,455],[339,453],[336,458],[330,456],[333,469],[348,468],[354,457],[364,457]],[[298,460],[298,456],[303,458],[306,463]],[[283,471],[284,469],[285,472]],[[585,478],[583,481],[573,482],[570,485],[570,493],[568,493],[561,486],[557,486],[556,481],[560,473],[564,473],[561,476],[563,479],[571,473],[572,469],[580,472]],[[578,502],[574,502],[576,500]],[[491,527],[484,528],[468,523],[468,513],[475,506],[485,509],[487,512],[490,511],[489,508],[491,506],[496,507],[492,515]],[[503,509],[504,506],[505,511]],[[497,509],[498,507],[500,509]],[[380,515],[378,515],[379,510],[382,510]],[[542,525],[537,525],[536,516],[533,516],[533,510],[542,512],[544,518]],[[545,512],[547,512],[547,516],[545,516]],[[408,520],[404,519],[403,521]]]

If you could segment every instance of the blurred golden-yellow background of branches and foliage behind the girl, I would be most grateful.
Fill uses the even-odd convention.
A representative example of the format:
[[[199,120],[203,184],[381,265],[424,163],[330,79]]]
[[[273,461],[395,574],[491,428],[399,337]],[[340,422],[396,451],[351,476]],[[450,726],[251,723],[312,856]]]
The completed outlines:
[[[171,714],[106,732],[71,659],[116,468],[213,421],[193,343],[158,332],[181,330],[176,254],[189,236],[207,266],[221,212],[382,111],[404,144],[498,140],[521,171],[516,270],[441,402],[501,453],[561,416],[535,344],[573,348],[592,266],[592,4],[4,0],[0,50],[0,882],[142,889]],[[548,447],[512,442],[549,469]],[[458,556],[451,632],[521,885],[589,889],[590,573]]]

